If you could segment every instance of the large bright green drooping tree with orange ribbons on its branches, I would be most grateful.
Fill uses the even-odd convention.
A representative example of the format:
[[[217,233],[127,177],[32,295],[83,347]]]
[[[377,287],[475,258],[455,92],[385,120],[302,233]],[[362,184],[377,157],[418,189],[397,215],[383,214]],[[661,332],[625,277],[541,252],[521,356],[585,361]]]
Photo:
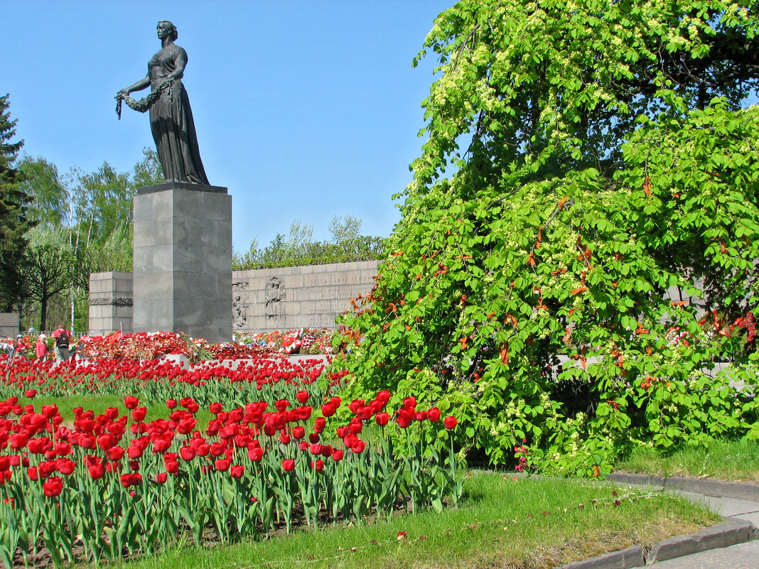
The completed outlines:
[[[759,436],[756,407],[701,371],[730,335],[706,335],[688,303],[703,280],[716,331],[759,315],[759,109],[741,108],[757,8],[464,0],[440,14],[402,221],[342,319],[350,395],[465,403],[462,434],[494,461],[518,443],[565,472],[598,475],[640,442]]]

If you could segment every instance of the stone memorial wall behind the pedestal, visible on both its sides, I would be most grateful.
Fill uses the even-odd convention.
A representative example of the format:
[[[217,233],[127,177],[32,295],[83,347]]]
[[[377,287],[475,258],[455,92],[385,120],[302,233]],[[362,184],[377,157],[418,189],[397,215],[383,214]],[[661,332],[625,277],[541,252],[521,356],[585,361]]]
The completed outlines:
[[[336,329],[351,298],[369,293],[379,261],[231,273],[231,330]],[[90,334],[132,332],[132,274],[90,275]]]

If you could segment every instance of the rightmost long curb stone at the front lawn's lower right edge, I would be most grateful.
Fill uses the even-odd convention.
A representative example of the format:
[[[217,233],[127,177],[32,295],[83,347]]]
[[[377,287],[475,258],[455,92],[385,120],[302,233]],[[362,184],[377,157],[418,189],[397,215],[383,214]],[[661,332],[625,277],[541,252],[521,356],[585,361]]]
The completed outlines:
[[[746,521],[726,520],[687,536],[670,537],[658,542],[646,555],[646,563],[652,564],[707,549],[724,548],[747,542],[754,536],[755,530],[756,528]]]

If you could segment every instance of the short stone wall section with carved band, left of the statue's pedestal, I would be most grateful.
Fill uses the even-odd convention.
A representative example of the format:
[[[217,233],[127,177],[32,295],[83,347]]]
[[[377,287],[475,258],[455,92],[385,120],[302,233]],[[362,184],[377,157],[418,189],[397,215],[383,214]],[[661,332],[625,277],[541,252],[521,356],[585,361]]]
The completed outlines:
[[[114,330],[132,332],[132,273],[93,272],[90,275],[90,334]]]

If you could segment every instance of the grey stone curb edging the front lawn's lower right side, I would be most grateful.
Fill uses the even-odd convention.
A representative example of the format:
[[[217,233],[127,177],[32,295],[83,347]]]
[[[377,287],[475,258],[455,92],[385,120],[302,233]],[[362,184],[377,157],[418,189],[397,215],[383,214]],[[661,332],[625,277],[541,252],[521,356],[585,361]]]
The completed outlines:
[[[664,539],[654,544],[648,555],[645,555],[645,550],[640,545],[633,545],[618,552],[574,561],[557,569],[632,569],[756,538],[757,528],[753,523],[728,517],[723,523],[717,523],[716,526],[704,528],[696,533]]]

